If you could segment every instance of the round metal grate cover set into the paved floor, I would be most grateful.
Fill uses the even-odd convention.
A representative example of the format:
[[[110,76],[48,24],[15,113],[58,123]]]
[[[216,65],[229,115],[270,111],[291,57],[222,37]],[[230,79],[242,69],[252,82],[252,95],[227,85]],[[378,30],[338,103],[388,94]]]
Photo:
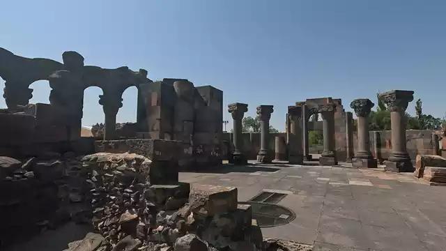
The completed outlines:
[[[284,206],[256,201],[243,201],[238,204],[251,205],[252,218],[257,220],[259,227],[277,227],[295,219],[295,213]]]

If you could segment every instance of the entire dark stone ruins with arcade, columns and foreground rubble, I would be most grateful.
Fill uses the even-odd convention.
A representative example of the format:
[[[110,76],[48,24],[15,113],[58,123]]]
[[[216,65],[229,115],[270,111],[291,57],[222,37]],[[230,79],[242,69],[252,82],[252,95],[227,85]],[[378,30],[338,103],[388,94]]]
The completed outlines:
[[[70,251],[86,247],[89,251],[291,250],[284,241],[263,240],[260,221],[253,218],[254,201],[238,201],[238,188],[182,182],[180,170],[217,169],[224,158],[234,167],[247,165],[251,155],[262,164],[305,165],[305,160],[312,160],[308,130],[316,126],[323,129],[319,165],[351,160],[352,167],[376,168],[387,154],[386,171],[413,171],[406,142],[410,134],[403,119],[413,91],[381,93],[392,115],[390,132],[369,132],[368,116],[374,107],[369,99],[350,104],[357,132],[353,114],[344,111],[340,99],[295,102],[287,110],[286,134],[270,134],[273,106],[260,105],[259,148],[251,154],[247,134],[242,133],[248,105],[228,105],[233,134],[232,140],[224,140],[219,89],[196,87],[187,79],[153,82],[144,69],[84,66],[84,57],[77,52],[64,52],[62,58],[63,63],[27,59],[0,48],[0,77],[6,81],[3,97],[8,106],[0,110],[0,210],[6,212],[0,215],[0,248],[74,221],[91,225],[95,233],[70,243]],[[40,79],[49,81],[50,103],[29,104],[33,92],[29,86]],[[103,91],[105,123],[93,126],[95,137],[81,137],[83,92],[89,86]],[[116,123],[123,91],[130,86],[138,89],[137,122]],[[323,121],[309,123],[313,114],[321,114]],[[426,144],[431,149],[426,151],[434,155],[417,155],[414,175],[431,184],[445,183],[446,160],[435,155],[438,137],[431,131],[417,133],[422,136],[414,138],[429,139]],[[391,134],[391,141],[385,134]],[[277,202],[289,195],[286,192],[293,194],[274,190],[262,195],[267,196],[264,201]],[[273,204],[264,201],[257,202]],[[284,224],[294,220],[283,213],[277,217],[289,220]],[[311,250],[308,245],[294,246]]]

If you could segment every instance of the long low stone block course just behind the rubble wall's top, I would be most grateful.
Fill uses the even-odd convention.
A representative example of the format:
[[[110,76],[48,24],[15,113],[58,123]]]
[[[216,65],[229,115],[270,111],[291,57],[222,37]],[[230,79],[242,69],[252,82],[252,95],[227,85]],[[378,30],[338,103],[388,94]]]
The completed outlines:
[[[164,139],[121,139],[95,142],[97,152],[136,153],[150,160],[177,160],[183,152],[183,142]]]

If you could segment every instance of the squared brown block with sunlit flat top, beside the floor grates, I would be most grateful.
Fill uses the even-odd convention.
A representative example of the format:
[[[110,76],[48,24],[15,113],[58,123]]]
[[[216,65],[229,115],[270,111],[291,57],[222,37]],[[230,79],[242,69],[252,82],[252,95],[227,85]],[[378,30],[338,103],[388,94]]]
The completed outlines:
[[[237,209],[237,188],[192,184],[189,204],[194,213],[213,216]]]

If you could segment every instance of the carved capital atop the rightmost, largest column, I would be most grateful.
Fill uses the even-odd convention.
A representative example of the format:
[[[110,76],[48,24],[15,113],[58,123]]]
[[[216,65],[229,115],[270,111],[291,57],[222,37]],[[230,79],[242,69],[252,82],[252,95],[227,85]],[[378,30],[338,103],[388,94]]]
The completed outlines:
[[[390,112],[406,112],[409,102],[413,101],[413,91],[393,90],[380,93],[378,98],[383,100]]]

